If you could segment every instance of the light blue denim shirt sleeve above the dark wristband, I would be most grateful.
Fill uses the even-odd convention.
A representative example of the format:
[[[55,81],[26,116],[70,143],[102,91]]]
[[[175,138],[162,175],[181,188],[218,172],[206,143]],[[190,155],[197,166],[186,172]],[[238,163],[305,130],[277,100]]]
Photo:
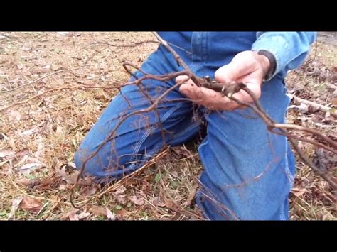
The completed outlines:
[[[252,50],[268,50],[274,55],[276,67],[270,80],[279,72],[299,67],[309,54],[316,35],[316,32],[257,32]]]

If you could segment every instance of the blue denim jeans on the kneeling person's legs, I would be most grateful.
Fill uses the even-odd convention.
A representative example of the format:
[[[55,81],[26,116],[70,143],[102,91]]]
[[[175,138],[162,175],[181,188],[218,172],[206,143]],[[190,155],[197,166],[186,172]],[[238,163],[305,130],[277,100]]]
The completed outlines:
[[[188,61],[188,59],[186,59]],[[217,67],[190,64],[199,76],[213,77]],[[161,46],[141,66],[162,75],[181,70]],[[137,77],[143,76],[136,72]],[[133,79],[132,79],[133,80]],[[145,80],[143,92],[135,85],[112,99],[75,153],[77,169],[109,136],[122,116],[151,105],[144,92],[156,99],[175,84]],[[262,85],[260,102],[275,121],[284,122],[289,105],[284,81],[274,77]],[[120,178],[144,165],[164,144],[177,146],[198,136],[193,104],[174,89],[159,103],[158,111],[135,114],[124,121],[97,155],[87,161],[85,172],[100,178]],[[180,100],[179,100],[180,99]],[[294,182],[295,159],[287,139],[267,131],[251,109],[200,110],[207,121],[207,136],[198,148],[204,170],[196,203],[207,219],[289,219],[289,191]],[[164,132],[164,135],[162,134]]]

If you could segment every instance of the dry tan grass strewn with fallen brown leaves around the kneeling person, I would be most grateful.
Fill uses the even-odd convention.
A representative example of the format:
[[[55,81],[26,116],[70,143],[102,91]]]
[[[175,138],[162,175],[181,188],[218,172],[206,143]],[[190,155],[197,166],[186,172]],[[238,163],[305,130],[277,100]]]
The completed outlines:
[[[139,66],[157,45],[115,48],[95,41],[131,43],[148,39],[153,39],[151,33],[0,35],[0,92],[4,92],[0,94],[0,109],[50,88],[124,82],[128,75],[122,69],[122,62],[127,60]],[[311,58],[314,53],[315,50]],[[336,47],[319,43],[314,62],[333,69],[336,53]],[[80,67],[90,58],[87,65],[78,70],[60,72],[6,92],[51,72]],[[327,90],[333,84],[330,80],[308,76],[307,72],[305,67],[291,72],[290,89],[298,88],[301,97],[327,104],[333,97]],[[109,189],[109,193],[95,197],[80,210],[70,205],[69,189],[72,175],[76,174],[72,168],[73,154],[115,92],[113,89],[58,90],[1,114],[0,219],[200,218],[193,206],[196,180],[202,170],[196,153],[198,143],[166,150],[156,163],[118,185],[77,187],[76,202],[83,202],[101,190]],[[290,110],[289,121],[301,121],[301,117],[304,115]],[[315,126],[310,120],[302,123]],[[336,129],[331,122],[323,124],[331,126],[323,128],[326,132]],[[314,148],[304,145],[304,149],[313,155]],[[21,170],[23,165],[32,163],[41,165],[36,165],[35,170]],[[63,172],[58,172],[60,168]],[[326,182],[303,164],[299,163],[298,168],[295,185],[298,191],[291,195],[291,219],[337,219],[336,202]],[[20,207],[16,209],[15,202],[20,200]]]

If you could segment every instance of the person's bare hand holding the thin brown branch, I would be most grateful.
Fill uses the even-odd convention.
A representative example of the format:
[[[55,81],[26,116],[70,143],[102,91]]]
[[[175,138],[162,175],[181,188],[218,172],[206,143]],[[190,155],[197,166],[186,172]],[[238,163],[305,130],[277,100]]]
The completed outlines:
[[[220,67],[215,72],[215,80],[224,83],[243,82],[252,90],[257,98],[261,96],[261,84],[270,67],[268,58],[253,51],[238,53],[230,64]],[[176,82],[188,79],[186,75],[176,77]],[[220,92],[212,89],[198,87],[192,80],[184,82],[180,91],[193,102],[197,102],[211,110],[232,111],[241,106],[228,97],[223,97]],[[240,102],[253,102],[252,97],[244,90],[233,95]]]

